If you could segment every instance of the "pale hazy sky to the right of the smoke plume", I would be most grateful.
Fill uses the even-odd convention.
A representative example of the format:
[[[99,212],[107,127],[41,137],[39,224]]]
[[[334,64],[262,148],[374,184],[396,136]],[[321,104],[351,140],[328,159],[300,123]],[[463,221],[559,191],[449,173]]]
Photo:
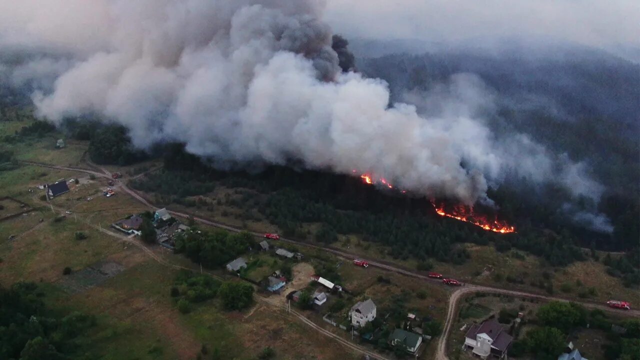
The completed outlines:
[[[638,0],[326,0],[350,37],[460,41],[525,38],[640,47]]]

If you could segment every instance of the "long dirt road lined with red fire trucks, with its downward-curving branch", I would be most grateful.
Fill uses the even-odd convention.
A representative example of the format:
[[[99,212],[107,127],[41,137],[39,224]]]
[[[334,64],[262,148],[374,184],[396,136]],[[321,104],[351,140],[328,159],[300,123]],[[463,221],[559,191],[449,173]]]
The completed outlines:
[[[57,168],[57,169],[61,169],[61,170],[76,170],[76,171],[86,172],[88,174],[94,174],[96,176],[101,176],[101,177],[106,177],[106,178],[111,179],[111,176],[109,176],[109,172],[107,170],[104,170],[104,169],[101,169],[102,172],[96,172],[96,171],[88,170],[88,169],[84,169],[84,168],[58,167],[58,166],[47,165],[47,164],[42,164],[42,163],[33,163],[33,162],[28,162],[28,161],[23,161],[23,162],[24,163],[29,163],[31,165],[37,165],[37,166],[49,167],[49,168]],[[134,190],[131,190],[130,188],[128,188],[126,186],[126,184],[124,184],[122,182],[118,182],[116,184],[116,187],[120,188],[120,190],[122,190],[124,192],[129,193],[129,195],[134,197],[134,199],[138,200],[139,202],[141,202],[145,206],[148,206],[149,208],[156,209],[156,207],[153,206],[152,204],[150,204],[145,198],[141,197],[141,195],[136,193]],[[221,224],[221,223],[214,222],[214,221],[211,221],[211,220],[207,220],[205,218],[193,217],[192,215],[189,215],[187,213],[180,213],[178,211],[171,211],[171,210],[168,210],[168,211],[170,213],[172,213],[172,215],[177,216],[177,217],[193,218],[194,221],[200,222],[201,224],[206,224],[206,225],[218,227],[218,228],[225,229],[225,230],[228,230],[228,231],[234,231],[234,232],[243,231],[243,229],[237,229],[236,227],[231,227],[229,225],[225,225],[225,224]],[[253,234],[254,236],[258,236],[258,237],[262,237],[264,235],[262,233],[251,233],[251,234]],[[291,239],[286,239],[286,238],[280,238],[280,240],[286,241],[288,243],[292,243],[292,244],[295,244],[295,245],[300,245],[300,246],[304,246],[304,247],[310,247],[312,249],[321,249],[321,250],[324,250],[326,252],[330,252],[332,254],[335,254],[336,256],[339,256],[340,258],[348,259],[349,261],[351,261],[352,259],[355,259],[355,258],[363,259],[362,257],[358,257],[355,254],[351,254],[351,253],[346,252],[344,250],[332,249],[331,247],[324,247],[324,246],[314,245],[314,244],[310,244],[310,243],[304,243],[304,242],[301,242],[301,241],[296,241],[296,240],[291,240]],[[441,282],[438,279],[431,279],[431,278],[427,277],[426,275],[422,275],[422,274],[419,274],[417,272],[412,272],[410,270],[399,268],[397,266],[381,263],[379,261],[374,261],[374,260],[367,260],[367,261],[369,262],[369,266],[375,266],[375,267],[381,268],[383,270],[387,270],[387,271],[390,271],[390,272],[395,272],[396,274],[402,274],[402,275],[414,277],[414,278],[420,279],[422,281]],[[449,299],[449,307],[447,309],[447,319],[445,320],[443,335],[440,336],[440,340],[438,341],[438,348],[437,348],[437,351],[436,351],[436,360],[447,360],[448,359],[447,356],[446,356],[446,343],[447,343],[447,339],[449,337],[449,333],[451,332],[451,327],[452,327],[452,325],[453,325],[453,323],[455,322],[455,319],[456,319],[456,315],[457,315],[456,307],[458,306],[458,300],[460,300],[461,297],[463,297],[463,295],[468,295],[469,293],[474,293],[474,292],[495,293],[495,294],[502,294],[502,295],[511,295],[511,296],[515,296],[515,297],[526,297],[526,298],[530,298],[530,299],[540,299],[540,300],[546,300],[546,301],[549,301],[549,300],[570,301],[568,299],[564,299],[564,298],[560,298],[560,297],[550,297],[550,296],[545,296],[545,295],[540,295],[540,294],[535,294],[535,293],[527,293],[525,291],[504,290],[504,289],[500,289],[500,288],[492,288],[490,286],[465,284],[465,286],[463,286],[462,288],[453,291],[453,293],[451,294],[451,298]],[[578,301],[578,300],[571,300],[571,301],[577,302],[577,303],[582,304],[583,306],[591,308],[591,309],[601,309],[601,310],[607,311],[609,313],[620,314],[620,312],[621,312],[621,310],[612,309],[611,307],[605,306],[603,304],[596,304],[594,302],[582,302],[582,301]],[[633,316],[640,316],[640,311],[638,311],[638,310],[630,310],[630,311],[626,311],[626,314],[633,315]],[[301,316],[301,319],[304,319],[303,321],[305,323],[312,323],[312,322],[310,322],[310,320],[308,320],[304,316],[302,316],[302,315],[300,315],[300,316]],[[317,325],[314,324],[314,327],[316,327],[316,326]],[[341,340],[340,342],[346,341],[346,340],[344,340],[342,338],[339,338],[339,339]],[[348,341],[346,341],[346,342],[349,343]],[[351,343],[349,343],[349,344],[351,344]],[[351,345],[353,345],[353,344],[351,344]],[[366,350],[363,349],[361,351],[365,352]],[[373,356],[373,357],[376,357],[376,358],[381,358],[380,355],[376,355],[376,354],[369,354],[369,355]]]

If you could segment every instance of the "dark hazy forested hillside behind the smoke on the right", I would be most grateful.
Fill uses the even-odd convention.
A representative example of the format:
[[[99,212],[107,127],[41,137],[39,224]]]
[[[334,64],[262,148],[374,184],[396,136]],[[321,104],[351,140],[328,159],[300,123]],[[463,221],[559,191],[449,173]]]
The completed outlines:
[[[391,44],[392,45],[392,44]],[[398,44],[410,49],[410,44]],[[375,44],[367,44],[375,48]],[[365,49],[362,49],[365,52]],[[424,94],[447,83],[452,75],[470,73],[486,86],[490,110],[484,121],[497,138],[523,133],[556,154],[584,161],[605,187],[598,211],[612,222],[605,236],[571,224],[564,214],[570,194],[551,184],[507,179],[490,197],[508,217],[529,217],[534,226],[570,231],[600,249],[621,250],[640,239],[640,72],[637,64],[610,54],[566,49],[478,49],[438,53],[389,53],[358,58],[358,70],[387,81],[392,99],[415,101],[426,115],[437,106],[420,104]],[[411,97],[408,94],[418,94]],[[477,101],[477,99],[476,99]],[[432,105],[432,104],[430,104]],[[433,114],[432,114],[433,115]],[[582,201],[582,200],[580,200]]]

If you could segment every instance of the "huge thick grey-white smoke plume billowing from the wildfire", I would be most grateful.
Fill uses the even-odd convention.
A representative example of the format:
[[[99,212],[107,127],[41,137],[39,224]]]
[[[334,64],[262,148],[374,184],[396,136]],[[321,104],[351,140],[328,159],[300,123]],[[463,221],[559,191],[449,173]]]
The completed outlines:
[[[38,58],[47,76],[60,73],[33,93],[38,114],[53,122],[99,113],[127,127],[138,147],[184,142],[218,164],[358,169],[467,204],[488,200],[488,186],[506,174],[556,179],[577,197],[602,192],[584,164],[525,135],[492,135],[483,117],[493,95],[479,78],[460,74],[408,94],[428,116],[389,104],[385,82],[341,71],[353,57],[321,20],[321,1],[8,3],[0,44],[58,59]]]

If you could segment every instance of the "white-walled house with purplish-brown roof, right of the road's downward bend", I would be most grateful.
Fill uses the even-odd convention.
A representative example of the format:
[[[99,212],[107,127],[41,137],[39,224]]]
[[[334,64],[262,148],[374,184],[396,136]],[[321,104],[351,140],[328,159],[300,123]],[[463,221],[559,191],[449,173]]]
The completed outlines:
[[[473,354],[486,359],[493,355],[503,359],[513,338],[504,331],[495,318],[486,320],[480,325],[472,325],[465,335],[465,346],[472,349]]]

